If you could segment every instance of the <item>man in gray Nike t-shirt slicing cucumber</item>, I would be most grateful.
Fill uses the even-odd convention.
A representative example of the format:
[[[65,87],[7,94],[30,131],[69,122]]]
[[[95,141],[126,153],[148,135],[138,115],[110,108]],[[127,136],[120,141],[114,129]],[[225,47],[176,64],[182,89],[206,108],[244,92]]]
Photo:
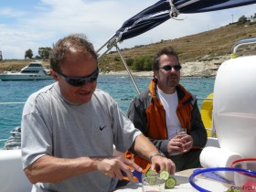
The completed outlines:
[[[110,191],[122,172],[133,181],[130,167],[142,168],[112,156],[113,144],[150,160],[156,171],[175,173],[112,97],[96,89],[97,54],[86,37],[60,39],[50,68],[56,82],[30,95],[22,116],[22,163],[32,191]]]

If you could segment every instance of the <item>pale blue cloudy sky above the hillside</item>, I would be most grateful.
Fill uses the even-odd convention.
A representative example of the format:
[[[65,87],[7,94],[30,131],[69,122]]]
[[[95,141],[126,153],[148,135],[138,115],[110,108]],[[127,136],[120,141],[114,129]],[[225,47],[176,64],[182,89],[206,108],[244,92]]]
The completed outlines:
[[[28,48],[34,56],[40,47],[52,47],[70,33],[84,33],[100,48],[123,22],[154,5],[156,0],[1,0],[0,50],[4,59],[24,59]],[[161,39],[185,37],[253,16],[256,5],[210,13],[179,15],[154,29],[124,41],[120,48],[147,45]]]

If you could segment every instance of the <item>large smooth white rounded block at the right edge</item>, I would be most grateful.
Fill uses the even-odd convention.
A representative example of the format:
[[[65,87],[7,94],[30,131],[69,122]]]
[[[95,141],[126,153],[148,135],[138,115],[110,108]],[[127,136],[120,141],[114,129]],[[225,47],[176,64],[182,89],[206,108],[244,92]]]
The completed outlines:
[[[214,85],[213,120],[220,148],[256,156],[256,56],[221,64]]]

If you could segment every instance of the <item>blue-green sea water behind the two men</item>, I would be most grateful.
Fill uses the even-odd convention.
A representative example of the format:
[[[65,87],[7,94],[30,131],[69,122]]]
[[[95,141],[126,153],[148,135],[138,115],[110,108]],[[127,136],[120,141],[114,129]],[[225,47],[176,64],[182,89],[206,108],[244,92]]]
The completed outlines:
[[[152,77],[134,76],[139,91],[145,91],[151,79]],[[214,80],[214,78],[183,78],[181,84],[200,99],[206,98],[213,92]],[[0,80],[0,149],[4,145],[3,140],[9,137],[10,131],[20,125],[27,97],[52,82],[54,80]],[[97,88],[109,92],[124,113],[133,96],[137,94],[128,75],[100,75]],[[198,100],[199,108],[202,101]]]

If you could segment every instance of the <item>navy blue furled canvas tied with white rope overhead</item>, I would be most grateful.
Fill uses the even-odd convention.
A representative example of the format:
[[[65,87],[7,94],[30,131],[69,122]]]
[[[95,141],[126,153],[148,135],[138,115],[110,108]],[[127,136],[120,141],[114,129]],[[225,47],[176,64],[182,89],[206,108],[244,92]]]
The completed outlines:
[[[160,0],[126,20],[115,33],[116,42],[143,34],[179,14],[217,11],[255,3],[256,0]]]

